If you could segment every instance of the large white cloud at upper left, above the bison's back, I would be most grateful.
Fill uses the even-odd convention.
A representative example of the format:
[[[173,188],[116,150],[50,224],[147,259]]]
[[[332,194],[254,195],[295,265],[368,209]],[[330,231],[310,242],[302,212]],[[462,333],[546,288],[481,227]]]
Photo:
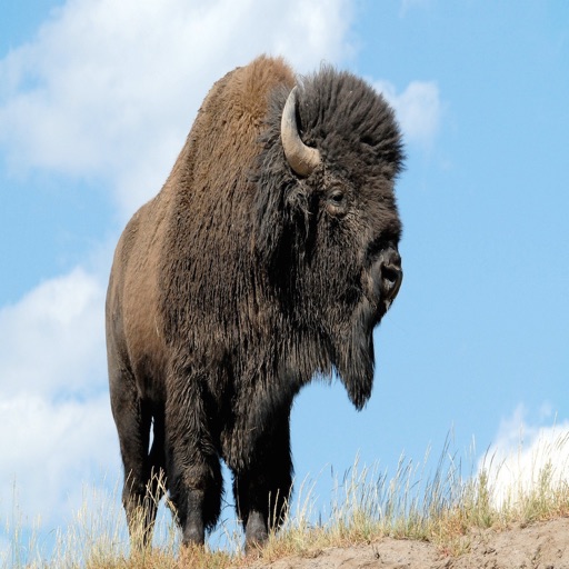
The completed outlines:
[[[163,182],[207,90],[261,52],[299,71],[352,53],[349,0],[69,1],[0,62],[13,168],[108,179],[131,213]]]

